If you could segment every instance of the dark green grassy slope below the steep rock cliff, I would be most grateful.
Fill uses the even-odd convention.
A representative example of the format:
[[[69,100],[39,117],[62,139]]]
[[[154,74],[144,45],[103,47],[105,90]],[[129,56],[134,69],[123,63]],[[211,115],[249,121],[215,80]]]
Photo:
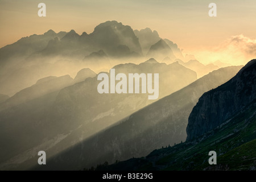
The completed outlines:
[[[110,170],[255,170],[256,102],[195,140],[151,152],[146,158],[110,165]],[[217,152],[217,165],[208,163]]]

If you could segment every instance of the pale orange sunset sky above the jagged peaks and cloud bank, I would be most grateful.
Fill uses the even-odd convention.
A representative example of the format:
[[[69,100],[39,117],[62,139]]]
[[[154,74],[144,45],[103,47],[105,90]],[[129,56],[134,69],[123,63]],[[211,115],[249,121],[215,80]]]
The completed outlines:
[[[38,16],[40,2],[46,3],[46,17]],[[217,17],[208,15],[211,2]],[[191,50],[217,46],[234,35],[255,39],[255,18],[256,1],[251,0],[0,0],[0,47],[49,29],[90,34],[98,24],[117,20],[134,30],[150,27]]]

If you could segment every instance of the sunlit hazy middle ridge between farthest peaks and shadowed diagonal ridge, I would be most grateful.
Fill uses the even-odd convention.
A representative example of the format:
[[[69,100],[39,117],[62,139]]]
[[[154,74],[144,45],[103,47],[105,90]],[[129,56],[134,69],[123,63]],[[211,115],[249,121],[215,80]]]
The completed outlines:
[[[183,65],[167,65],[154,59],[139,65],[127,63],[113,68],[116,74],[159,73],[159,98],[196,80],[196,73]],[[78,79],[84,81],[74,84]],[[98,82],[95,73],[82,69],[74,81],[69,76],[43,78],[3,102],[0,105],[1,141],[13,137],[1,151],[0,161],[26,161],[27,155],[19,154],[26,154],[41,145],[48,156],[55,155],[154,101],[148,100],[147,94],[100,94],[97,92]],[[19,130],[21,123],[26,130]],[[65,140],[60,136],[69,137]],[[21,147],[20,138],[27,137],[31,137],[29,142],[22,142]],[[53,150],[49,141],[55,143],[53,146],[57,145],[57,149]],[[13,152],[9,152],[11,148]],[[17,155],[18,159],[15,159]],[[10,160],[6,160],[8,167]]]

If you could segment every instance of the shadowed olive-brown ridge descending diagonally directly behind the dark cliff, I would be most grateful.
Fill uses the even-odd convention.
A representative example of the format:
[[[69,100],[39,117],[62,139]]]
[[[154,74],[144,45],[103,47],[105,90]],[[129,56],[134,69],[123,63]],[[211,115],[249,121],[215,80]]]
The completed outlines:
[[[189,113],[201,94],[228,81],[239,69],[241,67],[227,67],[209,73],[93,137],[85,140],[77,138],[76,145],[53,156],[48,166],[37,169],[89,168],[105,161],[114,163],[115,160],[143,156],[155,148],[184,141]],[[62,142],[71,141],[72,137]]]

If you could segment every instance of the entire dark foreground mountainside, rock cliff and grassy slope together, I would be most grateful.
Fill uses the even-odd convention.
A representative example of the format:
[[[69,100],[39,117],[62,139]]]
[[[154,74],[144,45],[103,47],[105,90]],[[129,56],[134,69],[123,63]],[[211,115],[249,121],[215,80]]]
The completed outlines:
[[[256,60],[251,60],[199,98],[189,115],[186,142],[97,170],[255,170],[255,71]],[[209,151],[216,151],[216,165],[208,163]]]

